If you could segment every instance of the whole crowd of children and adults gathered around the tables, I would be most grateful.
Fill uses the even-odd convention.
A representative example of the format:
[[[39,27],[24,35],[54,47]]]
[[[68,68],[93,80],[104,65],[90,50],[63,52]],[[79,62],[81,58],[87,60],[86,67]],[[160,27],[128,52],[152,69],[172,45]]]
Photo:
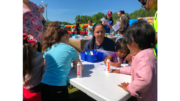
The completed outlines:
[[[138,0],[147,11],[157,10],[157,0]],[[30,92],[41,92],[42,101],[68,101],[67,79],[71,63],[81,63],[78,52],[69,45],[69,34],[58,22],[44,25],[44,8],[29,0],[23,0],[23,87]],[[129,17],[124,11],[118,12],[119,37],[113,41],[110,34],[113,26],[112,11],[108,11],[105,21],[92,25],[88,20],[88,35],[92,36],[83,51],[88,49],[106,50],[112,53],[104,59],[111,65],[113,73],[131,75],[131,83],[121,83],[119,87],[131,94],[128,101],[157,101],[157,12],[153,26],[139,20],[129,27]],[[73,32],[80,33],[80,19]],[[42,53],[43,51],[43,53]],[[120,59],[120,61],[117,60]],[[82,65],[82,63],[81,63]],[[83,71],[83,65],[82,70]]]

